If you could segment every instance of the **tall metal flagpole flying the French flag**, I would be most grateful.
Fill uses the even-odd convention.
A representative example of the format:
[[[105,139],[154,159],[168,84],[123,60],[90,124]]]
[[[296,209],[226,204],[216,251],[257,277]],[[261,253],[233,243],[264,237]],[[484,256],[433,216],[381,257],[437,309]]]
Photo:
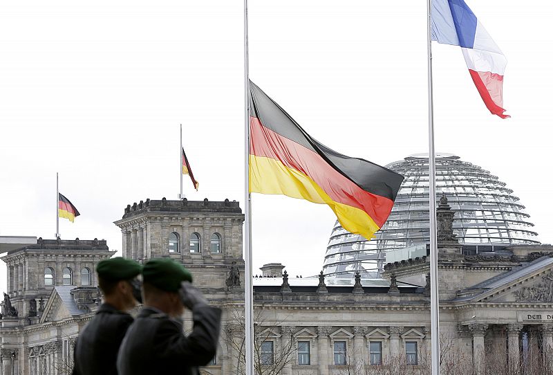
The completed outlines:
[[[434,154],[434,109],[432,96],[431,1],[427,0],[428,50],[428,136],[429,136],[429,215],[430,215],[430,321],[432,375],[440,375],[440,313],[438,298],[438,237],[436,226],[436,181]]]

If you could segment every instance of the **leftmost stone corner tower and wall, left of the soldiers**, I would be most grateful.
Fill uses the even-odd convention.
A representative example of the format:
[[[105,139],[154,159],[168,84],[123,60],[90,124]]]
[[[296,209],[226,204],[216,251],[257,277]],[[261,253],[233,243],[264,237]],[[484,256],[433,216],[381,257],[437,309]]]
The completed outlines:
[[[96,265],[114,253],[104,240],[39,238],[3,255],[1,374],[71,373],[75,338],[100,301]]]

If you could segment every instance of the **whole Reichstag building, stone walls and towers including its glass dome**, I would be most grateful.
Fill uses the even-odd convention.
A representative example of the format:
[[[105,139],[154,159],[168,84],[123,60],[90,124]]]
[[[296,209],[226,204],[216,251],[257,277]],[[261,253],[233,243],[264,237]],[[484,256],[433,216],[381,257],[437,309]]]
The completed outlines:
[[[540,244],[512,190],[458,156],[437,156],[433,337],[428,157],[387,167],[405,180],[375,240],[337,223],[319,275],[292,277],[274,259],[254,277],[256,373],[429,374],[430,342],[440,340],[443,374],[552,374],[553,248]],[[127,205],[114,222],[122,256],[182,262],[223,309],[218,352],[204,374],[245,373],[243,221],[236,201],[164,198]],[[114,252],[97,239],[39,238],[4,249],[1,374],[70,374],[75,339],[101,302],[95,266]]]

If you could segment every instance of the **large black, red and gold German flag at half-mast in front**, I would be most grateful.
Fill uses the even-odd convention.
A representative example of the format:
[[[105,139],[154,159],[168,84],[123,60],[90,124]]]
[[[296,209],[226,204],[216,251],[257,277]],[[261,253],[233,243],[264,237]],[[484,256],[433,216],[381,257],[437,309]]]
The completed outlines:
[[[250,81],[250,192],[327,204],[344,229],[371,239],[388,219],[402,181],[317,142]]]

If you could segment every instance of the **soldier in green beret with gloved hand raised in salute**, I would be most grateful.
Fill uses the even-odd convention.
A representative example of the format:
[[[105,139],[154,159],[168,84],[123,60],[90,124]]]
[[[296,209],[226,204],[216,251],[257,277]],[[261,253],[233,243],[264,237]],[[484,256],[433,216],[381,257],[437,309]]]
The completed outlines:
[[[190,283],[192,276],[171,259],[151,259],[142,270],[144,309],[119,349],[120,375],[198,374],[215,356],[221,309],[211,307]],[[185,336],[182,313],[194,315],[194,329]]]

